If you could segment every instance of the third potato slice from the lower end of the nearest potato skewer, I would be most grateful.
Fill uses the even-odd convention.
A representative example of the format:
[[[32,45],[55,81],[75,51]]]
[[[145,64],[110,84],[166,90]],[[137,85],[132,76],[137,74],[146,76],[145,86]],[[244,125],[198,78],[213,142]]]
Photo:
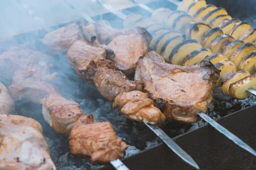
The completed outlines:
[[[221,87],[222,86],[222,82],[221,82],[221,77],[226,74],[229,71],[232,71],[233,73],[236,72],[236,66],[234,65],[233,62],[227,61],[227,60],[222,60],[218,63],[215,64],[215,67],[220,70],[220,77],[216,82],[215,87]]]

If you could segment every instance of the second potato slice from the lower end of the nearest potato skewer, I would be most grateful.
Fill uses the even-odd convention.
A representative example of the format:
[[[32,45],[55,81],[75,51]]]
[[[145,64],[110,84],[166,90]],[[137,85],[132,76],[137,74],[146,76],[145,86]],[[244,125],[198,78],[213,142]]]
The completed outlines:
[[[222,94],[224,94],[225,96],[229,96],[230,85],[247,76],[250,76],[250,73],[248,71],[238,71],[236,73],[231,74],[229,77],[227,77],[227,79],[225,80],[221,87]]]

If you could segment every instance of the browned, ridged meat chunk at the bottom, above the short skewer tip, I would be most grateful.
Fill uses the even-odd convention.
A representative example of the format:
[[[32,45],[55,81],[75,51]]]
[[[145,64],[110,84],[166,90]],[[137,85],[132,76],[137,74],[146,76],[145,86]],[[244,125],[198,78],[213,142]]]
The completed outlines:
[[[121,159],[127,144],[117,139],[110,122],[96,122],[93,115],[82,116],[69,136],[70,151],[77,156],[90,156],[92,162]]]

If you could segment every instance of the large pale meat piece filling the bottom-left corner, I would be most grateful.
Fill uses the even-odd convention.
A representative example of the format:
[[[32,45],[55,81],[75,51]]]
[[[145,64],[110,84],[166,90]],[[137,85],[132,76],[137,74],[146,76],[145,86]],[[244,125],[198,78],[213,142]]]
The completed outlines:
[[[0,169],[56,170],[37,121],[0,114]]]

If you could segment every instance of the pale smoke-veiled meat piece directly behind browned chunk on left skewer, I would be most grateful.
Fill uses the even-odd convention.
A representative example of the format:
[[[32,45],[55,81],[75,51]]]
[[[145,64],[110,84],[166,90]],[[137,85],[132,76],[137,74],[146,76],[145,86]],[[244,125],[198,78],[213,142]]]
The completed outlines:
[[[15,101],[27,99],[30,102],[42,104],[48,94],[58,94],[57,88],[41,80],[34,71],[15,71],[12,85],[8,88]]]

